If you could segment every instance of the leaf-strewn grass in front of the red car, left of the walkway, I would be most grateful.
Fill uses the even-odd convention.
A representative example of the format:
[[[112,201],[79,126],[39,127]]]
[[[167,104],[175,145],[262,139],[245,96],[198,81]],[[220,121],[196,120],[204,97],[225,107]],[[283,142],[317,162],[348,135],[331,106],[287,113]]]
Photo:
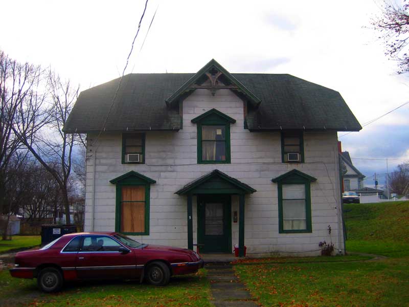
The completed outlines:
[[[210,282],[206,270],[172,277],[166,287],[149,286],[139,281],[95,281],[68,283],[63,291],[44,294],[36,279],[11,278],[0,271],[0,306],[211,306]]]

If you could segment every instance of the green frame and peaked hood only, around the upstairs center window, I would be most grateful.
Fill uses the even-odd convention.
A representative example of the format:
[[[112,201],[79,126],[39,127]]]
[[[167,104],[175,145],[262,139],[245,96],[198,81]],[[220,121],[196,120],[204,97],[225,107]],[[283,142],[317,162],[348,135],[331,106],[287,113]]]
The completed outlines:
[[[230,124],[236,120],[217,111],[211,109],[202,115],[191,120],[197,123],[197,164],[229,164],[231,163],[231,148],[230,148]],[[203,160],[202,159],[202,127],[203,126],[224,126],[224,144],[225,144],[225,160]]]

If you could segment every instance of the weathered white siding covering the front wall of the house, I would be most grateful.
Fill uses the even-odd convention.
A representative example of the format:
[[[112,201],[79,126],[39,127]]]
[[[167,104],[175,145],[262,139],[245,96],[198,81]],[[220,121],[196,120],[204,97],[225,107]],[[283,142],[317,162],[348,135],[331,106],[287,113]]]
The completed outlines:
[[[236,119],[231,124],[231,164],[196,164],[196,124],[191,119],[211,108]],[[95,135],[88,135],[88,144]],[[134,236],[143,243],[187,247],[187,198],[175,191],[214,169],[255,188],[245,197],[245,245],[254,256],[319,254],[318,244],[330,241],[343,249],[340,220],[337,136],[335,131],[310,132],[304,135],[305,162],[281,163],[279,132],[250,133],[244,129],[243,102],[229,90],[212,96],[196,90],[183,103],[183,129],[146,131],[146,164],[122,165],[121,134],[103,133],[93,147],[87,148],[85,230],[92,230],[92,207],[95,178],[94,231],[115,230],[115,185],[109,180],[134,170],[156,180],[150,192],[150,233]],[[96,156],[95,156],[96,151]],[[94,165],[95,159],[95,165]],[[95,176],[94,176],[95,167]],[[312,233],[278,233],[277,184],[271,179],[297,168],[317,178],[311,183]],[[232,196],[232,246],[238,244],[238,197]],[[196,197],[193,198],[193,242],[196,243]],[[312,251],[312,252],[309,252]],[[290,253],[287,253],[290,252]]]

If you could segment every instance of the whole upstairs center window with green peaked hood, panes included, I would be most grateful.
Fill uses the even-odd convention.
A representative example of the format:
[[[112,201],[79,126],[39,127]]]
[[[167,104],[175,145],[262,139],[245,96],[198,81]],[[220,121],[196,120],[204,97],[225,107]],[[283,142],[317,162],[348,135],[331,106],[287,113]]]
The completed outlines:
[[[230,124],[236,120],[211,109],[192,122],[197,123],[197,163],[230,163]]]

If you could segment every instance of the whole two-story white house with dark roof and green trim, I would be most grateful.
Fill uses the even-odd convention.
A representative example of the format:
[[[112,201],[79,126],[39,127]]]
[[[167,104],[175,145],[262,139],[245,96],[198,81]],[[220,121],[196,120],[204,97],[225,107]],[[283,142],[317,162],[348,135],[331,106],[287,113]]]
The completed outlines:
[[[92,87],[64,126],[87,134],[86,231],[259,256],[319,254],[329,225],[344,249],[337,131],[360,129],[336,91],[215,60]]]

